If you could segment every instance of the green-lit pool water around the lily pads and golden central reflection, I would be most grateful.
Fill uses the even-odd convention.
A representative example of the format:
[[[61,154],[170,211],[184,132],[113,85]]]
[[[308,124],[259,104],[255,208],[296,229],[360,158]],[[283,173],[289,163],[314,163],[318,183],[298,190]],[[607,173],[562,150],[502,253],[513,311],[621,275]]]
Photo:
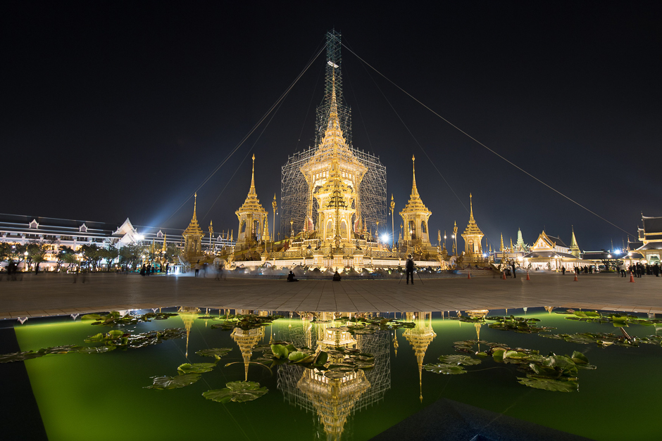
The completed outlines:
[[[524,315],[522,310],[509,313]],[[548,314],[542,309],[528,309],[527,317],[541,319],[539,326],[556,326],[558,329],[552,331],[555,333],[618,331],[611,324],[568,321],[560,314]],[[235,440],[326,437],[325,429],[329,428],[320,420],[320,403],[311,402],[297,388],[304,372],[300,367],[274,368],[270,373],[251,364],[248,380],[266,386],[267,395],[245,403],[205,400],[202,392],[224,388],[229,381],[244,380],[244,364],[237,343],[229,331],[211,329],[211,324],[213,321],[194,320],[188,358],[185,357],[187,342],[181,339],[127,351],[49,355],[27,360],[25,366],[49,439],[116,440],[130,433],[135,434],[126,439],[182,440],[206,435]],[[314,344],[318,326],[323,325],[308,324],[297,317],[279,319],[266,328],[260,343],[268,343],[273,334],[275,340],[293,341],[295,345],[310,342],[308,335],[311,335]],[[128,328],[144,332],[171,327],[184,327],[182,317]],[[442,319],[440,315],[432,319],[432,329],[436,336],[427,345],[424,363],[436,362],[442,354],[454,354],[455,341],[476,338],[473,324]],[[83,340],[88,335],[108,330],[91,326],[89,321],[15,326],[21,350],[86,345]],[[637,336],[655,331],[653,326],[627,328],[630,335]],[[543,354],[584,352],[597,369],[580,371],[579,392],[563,393],[520,385],[516,366],[497,364],[491,358],[479,366],[469,366],[468,373],[463,375],[439,375],[423,370],[419,385],[416,353],[406,338],[407,333],[407,329],[399,329],[358,338],[359,345],[375,353],[376,363],[375,369],[366,374],[370,388],[355,400],[349,400],[346,404],[351,407],[349,416],[337,421],[344,439],[369,439],[442,397],[597,440],[656,439],[662,433],[662,420],[658,418],[662,409],[658,404],[658,397],[662,396],[658,375],[662,347],[603,349],[536,334],[497,331],[487,325],[480,328],[481,340],[510,347],[536,349]],[[210,347],[233,349],[213,371],[203,373],[197,383],[174,390],[144,389],[151,385],[150,377],[177,375],[177,366],[182,363],[213,361],[195,354]],[[224,367],[230,362],[239,363]],[[1,368],[2,365],[0,372]]]

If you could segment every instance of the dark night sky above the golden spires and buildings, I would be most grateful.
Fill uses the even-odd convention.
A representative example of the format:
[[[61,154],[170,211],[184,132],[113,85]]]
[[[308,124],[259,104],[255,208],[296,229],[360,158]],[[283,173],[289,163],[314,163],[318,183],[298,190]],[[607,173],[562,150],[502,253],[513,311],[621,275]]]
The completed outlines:
[[[634,235],[642,212],[662,216],[659,1],[235,3],[5,1],[0,212],[185,228],[187,198],[335,27],[409,94],[609,222]],[[466,227],[469,193],[493,247],[518,227],[527,243],[544,228],[569,245],[571,225],[583,250],[627,242],[342,56],[354,147],[380,156],[398,212],[416,155],[434,242]],[[258,197],[269,212],[280,202],[280,167],[313,144],[324,67],[323,53],[199,188],[204,229],[236,236],[253,153]]]

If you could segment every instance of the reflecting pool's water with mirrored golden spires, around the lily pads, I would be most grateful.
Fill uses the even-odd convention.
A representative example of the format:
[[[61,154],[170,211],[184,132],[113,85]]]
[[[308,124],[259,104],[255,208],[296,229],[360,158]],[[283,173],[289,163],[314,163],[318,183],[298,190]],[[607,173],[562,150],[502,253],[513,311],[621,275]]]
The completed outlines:
[[[147,312],[153,311],[130,314]],[[662,324],[653,314],[627,313],[629,319],[618,321],[618,317],[608,319],[611,312],[598,312],[600,319],[552,307],[390,314],[196,307],[161,312],[177,315],[120,326],[92,325],[94,320],[81,317],[0,322],[2,353],[63,345],[100,347],[103,342],[85,340],[113,329],[136,335],[182,328],[176,338],[156,345],[92,354],[47,354],[0,364],[4,390],[13,391],[16,408],[0,417],[4,419],[1,427],[42,426],[42,437],[64,441],[181,440],[207,435],[232,440],[368,440],[398,423],[406,424],[406,418],[437,400],[447,399],[595,440],[656,439],[662,433],[662,419],[658,418],[662,347],[657,337],[662,335]],[[282,318],[242,329],[220,319],[225,314]],[[490,319],[511,315],[538,319],[525,323],[554,329],[520,333],[499,328],[501,322]],[[362,318],[373,326],[353,328],[362,324]],[[390,328],[400,321],[406,326]],[[599,337],[582,344],[577,334],[589,340],[585,333],[613,334],[616,344]],[[546,334],[574,337],[544,338]],[[643,338],[649,344],[639,344]],[[470,349],[456,352],[462,348],[457,342],[466,340],[479,341],[465,343]],[[296,352],[303,349],[308,357],[327,351],[330,357],[320,365],[322,369],[310,363],[279,364],[270,343],[292,344]],[[339,375],[325,376],[323,366],[339,364],[342,368],[342,355],[333,354],[336,345],[350,350],[348,354],[354,349],[357,357],[363,354],[358,366],[366,369],[336,367]],[[13,350],[7,349],[11,347]],[[219,359],[196,354],[211,348],[230,350]],[[541,357],[550,353],[572,357],[577,351],[596,369],[576,371],[577,388],[572,392],[527,387],[518,381],[526,377],[523,366],[494,357],[495,348],[524,348]],[[440,356],[451,354],[478,359],[480,364],[461,366],[466,371],[461,375],[425,369],[440,364]],[[147,388],[154,377],[176,378],[183,374],[179,366],[198,363],[213,366],[190,385]],[[268,392],[246,402],[216,402],[203,396],[208,390],[242,381],[259,383]],[[18,413],[20,421],[15,419]]]

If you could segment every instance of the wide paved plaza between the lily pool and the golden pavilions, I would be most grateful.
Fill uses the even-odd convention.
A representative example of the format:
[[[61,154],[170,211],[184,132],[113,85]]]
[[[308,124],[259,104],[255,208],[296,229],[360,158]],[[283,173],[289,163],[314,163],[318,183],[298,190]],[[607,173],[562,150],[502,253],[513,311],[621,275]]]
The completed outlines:
[[[0,319],[192,306],[269,311],[407,312],[575,307],[662,313],[662,277],[613,274],[531,274],[525,280],[454,276],[416,280],[216,281],[213,276],[92,274],[87,283],[65,274],[27,274],[23,281],[0,281]]]

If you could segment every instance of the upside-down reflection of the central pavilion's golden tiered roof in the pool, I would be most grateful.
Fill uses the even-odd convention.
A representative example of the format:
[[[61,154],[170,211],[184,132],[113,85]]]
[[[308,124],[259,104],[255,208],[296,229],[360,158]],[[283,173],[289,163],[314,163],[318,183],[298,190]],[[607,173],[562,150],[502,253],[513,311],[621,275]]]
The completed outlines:
[[[339,440],[354,404],[370,388],[370,383],[363,371],[347,373],[343,378],[327,378],[323,372],[304,369],[296,386],[313,403],[327,440]]]

